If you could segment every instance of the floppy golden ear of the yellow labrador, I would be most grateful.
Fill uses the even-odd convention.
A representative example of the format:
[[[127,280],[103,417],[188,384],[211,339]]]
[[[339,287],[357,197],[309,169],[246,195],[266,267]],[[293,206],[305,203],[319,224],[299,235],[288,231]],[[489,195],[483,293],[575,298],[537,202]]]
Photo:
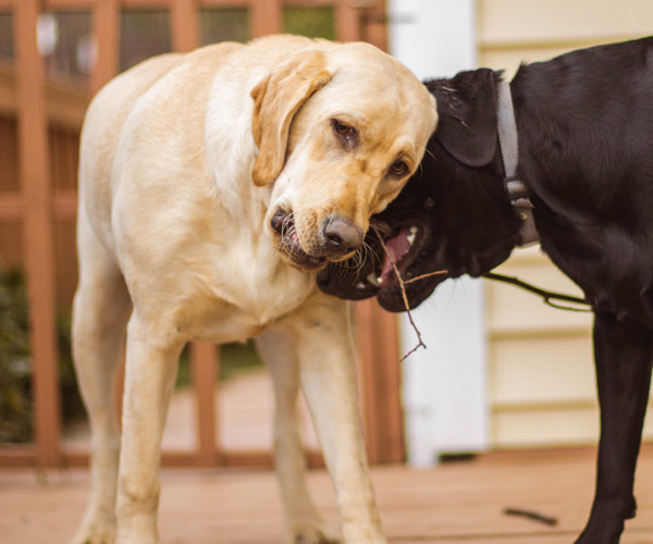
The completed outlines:
[[[320,51],[294,55],[254,89],[254,140],[259,152],[251,170],[257,186],[272,183],[281,173],[293,116],[310,96],[326,85],[332,74]]]

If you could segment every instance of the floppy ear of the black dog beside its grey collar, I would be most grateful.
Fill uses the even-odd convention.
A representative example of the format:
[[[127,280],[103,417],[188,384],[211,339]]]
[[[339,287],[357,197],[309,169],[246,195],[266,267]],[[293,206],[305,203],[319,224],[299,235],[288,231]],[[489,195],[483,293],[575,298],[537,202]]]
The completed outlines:
[[[435,139],[458,161],[483,166],[496,149],[496,81],[489,69],[426,82],[438,103]]]

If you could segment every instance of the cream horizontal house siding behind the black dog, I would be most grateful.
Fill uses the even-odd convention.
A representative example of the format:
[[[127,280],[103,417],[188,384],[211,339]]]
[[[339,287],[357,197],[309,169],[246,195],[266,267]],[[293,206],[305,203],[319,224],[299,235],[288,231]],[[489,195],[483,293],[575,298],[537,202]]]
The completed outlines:
[[[522,62],[653,34],[651,0],[478,0],[477,8],[479,64],[505,70],[507,79]],[[517,251],[498,271],[580,294],[538,248]],[[493,447],[595,444],[591,314],[554,310],[507,285],[489,282],[485,293]],[[644,424],[651,437],[653,413]]]

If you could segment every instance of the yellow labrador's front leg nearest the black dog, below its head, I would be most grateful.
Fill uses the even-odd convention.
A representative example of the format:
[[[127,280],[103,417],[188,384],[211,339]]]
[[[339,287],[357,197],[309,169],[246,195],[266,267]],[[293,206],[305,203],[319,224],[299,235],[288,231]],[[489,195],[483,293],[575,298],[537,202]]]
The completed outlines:
[[[346,544],[385,543],[369,474],[348,305],[316,297],[295,321],[304,395],[333,481]]]

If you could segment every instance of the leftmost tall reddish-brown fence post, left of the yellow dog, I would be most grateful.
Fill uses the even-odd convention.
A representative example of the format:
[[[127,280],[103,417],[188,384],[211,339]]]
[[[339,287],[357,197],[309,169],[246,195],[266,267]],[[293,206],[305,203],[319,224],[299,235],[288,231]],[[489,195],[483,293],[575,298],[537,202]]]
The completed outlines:
[[[25,201],[24,240],[32,321],[32,356],[38,463],[61,461],[59,370],[54,330],[54,252],[48,126],[41,59],[37,49],[38,0],[15,4],[19,157]]]

